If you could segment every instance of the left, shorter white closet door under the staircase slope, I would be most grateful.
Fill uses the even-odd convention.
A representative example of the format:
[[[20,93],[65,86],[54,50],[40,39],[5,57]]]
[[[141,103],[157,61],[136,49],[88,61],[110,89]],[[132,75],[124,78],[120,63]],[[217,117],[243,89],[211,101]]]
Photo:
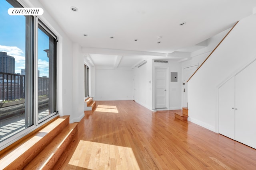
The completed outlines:
[[[219,88],[219,133],[235,139],[235,78],[232,77]]]

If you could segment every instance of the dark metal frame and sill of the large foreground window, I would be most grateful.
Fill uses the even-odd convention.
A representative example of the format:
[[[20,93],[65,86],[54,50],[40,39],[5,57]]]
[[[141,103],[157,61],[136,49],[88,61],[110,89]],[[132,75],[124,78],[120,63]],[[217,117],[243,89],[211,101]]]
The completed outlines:
[[[25,4],[21,3],[20,0],[6,0],[9,4],[11,4],[14,7],[18,8],[24,8],[26,7]],[[27,26],[27,23],[29,23],[29,27]],[[44,28],[47,33],[49,33],[52,37],[55,39],[54,43],[54,62],[52,63],[53,66],[53,101],[55,102],[55,111],[40,119],[38,121],[38,55],[37,55],[37,41],[38,41],[38,36],[37,36],[37,29],[38,25],[40,27]],[[29,30],[28,30],[29,29]],[[29,35],[29,37],[28,37]],[[29,44],[27,45],[29,41]],[[8,147],[9,145],[12,145],[16,141],[22,139],[22,137],[25,137],[32,131],[38,129],[48,121],[54,119],[55,117],[59,116],[58,114],[58,79],[57,79],[57,72],[58,72],[58,67],[57,67],[57,58],[58,58],[58,37],[47,27],[38,16],[28,16],[26,17],[26,70],[29,70],[26,72],[26,91],[25,91],[25,100],[26,100],[26,105],[25,105],[25,129],[19,131],[18,133],[12,135],[11,137],[5,139],[4,141],[0,142],[0,150]],[[27,58],[28,57],[28,58]],[[27,75],[28,73],[28,75]],[[31,119],[28,119],[31,118]]]

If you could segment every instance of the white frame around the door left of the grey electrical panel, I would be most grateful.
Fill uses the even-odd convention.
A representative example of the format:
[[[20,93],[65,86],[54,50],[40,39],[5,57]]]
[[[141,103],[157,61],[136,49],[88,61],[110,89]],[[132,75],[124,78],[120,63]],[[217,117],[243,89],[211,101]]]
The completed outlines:
[[[153,104],[152,104],[152,109],[156,111],[156,68],[166,68],[166,109],[157,109],[157,110],[169,110],[170,108],[170,69],[169,67],[161,67],[161,66],[155,66],[154,71],[153,71]]]

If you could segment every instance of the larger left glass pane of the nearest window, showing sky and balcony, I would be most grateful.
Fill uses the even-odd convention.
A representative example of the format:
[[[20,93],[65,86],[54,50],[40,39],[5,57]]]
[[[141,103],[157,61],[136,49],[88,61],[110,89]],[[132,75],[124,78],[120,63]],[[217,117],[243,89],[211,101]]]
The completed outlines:
[[[13,5],[0,5],[0,142],[26,127],[26,17],[9,16]]]

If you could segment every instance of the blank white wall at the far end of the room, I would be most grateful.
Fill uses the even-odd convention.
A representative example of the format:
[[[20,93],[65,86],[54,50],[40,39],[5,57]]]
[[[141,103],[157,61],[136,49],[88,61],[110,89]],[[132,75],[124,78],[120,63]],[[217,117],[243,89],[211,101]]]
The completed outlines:
[[[95,69],[95,100],[132,100],[132,70]]]

